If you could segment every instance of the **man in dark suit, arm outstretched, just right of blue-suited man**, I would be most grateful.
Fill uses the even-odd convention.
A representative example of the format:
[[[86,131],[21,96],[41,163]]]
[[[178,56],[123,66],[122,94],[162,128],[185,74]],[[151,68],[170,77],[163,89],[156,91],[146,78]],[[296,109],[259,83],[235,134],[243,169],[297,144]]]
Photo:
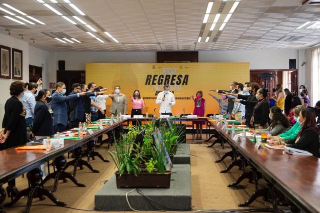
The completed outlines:
[[[72,92],[70,92],[70,95],[78,94],[81,91],[81,84],[75,83],[72,85]],[[105,90],[105,89],[104,89]],[[83,97],[90,97],[90,96],[97,96],[100,94],[103,94],[104,91],[102,92],[88,92],[84,96],[81,96],[81,99],[75,99],[69,101],[70,105],[70,128],[75,128],[79,125],[79,122],[82,122],[83,116],[84,116],[84,108],[83,108],[83,103],[82,103],[82,98]]]

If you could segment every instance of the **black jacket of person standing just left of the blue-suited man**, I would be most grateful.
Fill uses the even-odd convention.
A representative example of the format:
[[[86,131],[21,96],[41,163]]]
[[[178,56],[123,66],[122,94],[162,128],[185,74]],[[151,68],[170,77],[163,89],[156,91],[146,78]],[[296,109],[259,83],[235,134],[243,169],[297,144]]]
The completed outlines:
[[[54,134],[52,114],[43,101],[39,100],[36,102],[32,127],[32,133],[34,133],[35,136],[50,136]]]

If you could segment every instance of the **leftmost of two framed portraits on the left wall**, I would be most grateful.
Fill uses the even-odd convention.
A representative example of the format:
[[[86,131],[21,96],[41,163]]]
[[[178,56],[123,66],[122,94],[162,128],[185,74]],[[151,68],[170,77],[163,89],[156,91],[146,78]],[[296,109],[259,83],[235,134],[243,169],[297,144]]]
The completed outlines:
[[[11,78],[11,48],[0,45],[0,78]]]

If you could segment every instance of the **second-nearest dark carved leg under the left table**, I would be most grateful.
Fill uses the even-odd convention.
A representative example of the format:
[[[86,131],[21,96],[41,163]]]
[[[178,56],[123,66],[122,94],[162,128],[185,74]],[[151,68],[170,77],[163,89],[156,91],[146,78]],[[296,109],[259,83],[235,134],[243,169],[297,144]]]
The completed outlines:
[[[42,184],[45,184],[49,179],[54,178],[54,185],[51,192],[56,192],[59,180],[62,180],[64,183],[66,183],[67,178],[70,179],[76,186],[85,187],[84,184],[80,184],[70,173],[63,171],[65,164],[66,159],[64,155],[60,155],[59,157],[53,159],[53,165],[56,167],[56,171],[47,175],[45,179],[42,181]]]

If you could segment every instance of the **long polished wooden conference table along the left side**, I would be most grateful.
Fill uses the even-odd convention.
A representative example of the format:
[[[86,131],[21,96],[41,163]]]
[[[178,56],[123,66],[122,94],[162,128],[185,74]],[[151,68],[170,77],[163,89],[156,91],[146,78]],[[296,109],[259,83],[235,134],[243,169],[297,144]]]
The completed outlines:
[[[42,164],[45,164],[49,160],[53,161],[55,159],[59,159],[59,161],[65,165],[66,164],[66,159],[64,157],[64,154],[76,150],[77,148],[81,148],[83,144],[86,144],[90,141],[94,141],[94,138],[102,135],[103,133],[106,133],[108,131],[112,131],[114,128],[120,126],[126,122],[125,119],[120,120],[120,121],[114,121],[114,123],[107,124],[104,126],[102,130],[93,130],[92,129],[92,134],[86,134],[85,136],[81,136],[78,140],[64,140],[64,145],[61,145],[59,148],[52,148],[50,151],[45,151],[45,150],[15,150],[15,148],[19,147],[12,147],[6,150],[0,151],[0,213],[4,213],[1,211],[1,206],[2,203],[4,202],[6,198],[6,193],[2,187],[3,184],[7,183],[8,181],[21,176],[25,173],[27,173],[27,179],[30,182],[31,188],[35,188],[33,194],[41,194],[38,196],[38,198],[43,200],[43,195],[47,196],[53,203],[59,206],[65,206],[66,204],[63,202],[59,202],[52,194],[53,191],[48,191],[46,189],[40,188],[40,179],[42,175],[39,173],[41,170],[39,169],[39,166]],[[63,137],[61,137],[63,138]],[[34,145],[31,143],[28,143],[27,145]],[[38,145],[38,144],[37,144]],[[20,146],[21,147],[21,146]],[[83,150],[82,150],[83,151]],[[81,154],[81,153],[80,153]],[[89,161],[89,159],[88,159]],[[63,169],[63,168],[62,168]],[[64,171],[61,171],[61,174]],[[98,172],[98,171],[97,171]],[[75,174],[72,175],[72,177]],[[40,177],[41,176],[41,177]],[[49,176],[49,175],[48,175]],[[67,176],[62,177],[62,179],[58,180],[63,180],[65,182],[65,178],[69,178],[73,183],[75,183],[77,186],[85,187],[83,184],[79,184],[75,178],[70,177],[71,174],[67,174]],[[58,180],[55,180],[57,182]],[[75,180],[75,182],[74,182]],[[45,181],[45,179],[44,179]],[[76,183],[77,182],[77,183]],[[33,186],[32,186],[33,185]],[[55,187],[56,190],[56,187]],[[37,198],[36,195],[34,195]],[[30,200],[30,201],[29,201]],[[13,200],[14,201],[14,200]],[[14,202],[15,203],[15,202]],[[32,199],[28,198],[27,201],[27,207],[24,211],[24,213],[29,212],[30,210],[30,205],[32,203]]]

